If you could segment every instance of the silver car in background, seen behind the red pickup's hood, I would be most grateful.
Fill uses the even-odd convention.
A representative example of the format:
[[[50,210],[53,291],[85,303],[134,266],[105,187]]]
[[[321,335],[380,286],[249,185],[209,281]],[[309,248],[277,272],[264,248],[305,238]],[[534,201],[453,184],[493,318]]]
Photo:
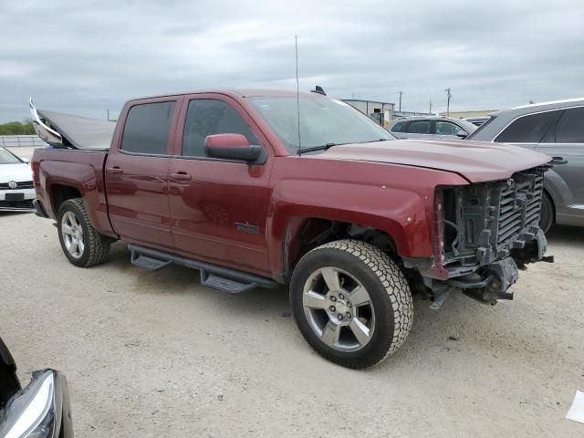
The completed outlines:
[[[393,120],[388,129],[398,139],[460,140],[473,133],[476,125],[450,117],[416,116]]]

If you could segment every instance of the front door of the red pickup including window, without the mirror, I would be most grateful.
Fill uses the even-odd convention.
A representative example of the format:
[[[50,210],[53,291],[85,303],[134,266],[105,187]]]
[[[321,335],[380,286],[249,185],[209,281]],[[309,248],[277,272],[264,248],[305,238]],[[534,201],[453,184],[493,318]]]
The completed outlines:
[[[237,133],[266,148],[264,164],[205,156],[207,135]],[[228,265],[268,270],[266,214],[273,152],[235,99],[200,94],[184,99],[169,177],[174,246]]]

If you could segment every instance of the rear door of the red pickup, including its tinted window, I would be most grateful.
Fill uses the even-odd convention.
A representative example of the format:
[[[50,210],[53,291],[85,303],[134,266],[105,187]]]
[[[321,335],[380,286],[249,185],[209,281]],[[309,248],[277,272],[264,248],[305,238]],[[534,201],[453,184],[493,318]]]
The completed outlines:
[[[110,220],[126,240],[172,246],[168,170],[177,99],[145,99],[122,111],[106,162]]]

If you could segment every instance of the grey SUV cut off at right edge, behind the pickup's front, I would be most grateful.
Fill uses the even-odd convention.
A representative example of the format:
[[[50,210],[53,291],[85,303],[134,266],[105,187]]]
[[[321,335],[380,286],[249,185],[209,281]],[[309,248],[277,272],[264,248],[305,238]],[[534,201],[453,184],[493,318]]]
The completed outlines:
[[[553,158],[546,172],[540,226],[584,226],[584,98],[502,110],[468,140],[506,143]]]

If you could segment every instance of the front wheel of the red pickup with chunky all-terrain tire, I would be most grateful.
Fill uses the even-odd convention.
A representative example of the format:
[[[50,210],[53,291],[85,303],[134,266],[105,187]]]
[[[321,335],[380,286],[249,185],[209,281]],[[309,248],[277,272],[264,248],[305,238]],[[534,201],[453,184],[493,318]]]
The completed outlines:
[[[379,248],[355,240],[318,246],[290,283],[297,326],[325,359],[362,369],[400,348],[412,328],[412,293]]]

